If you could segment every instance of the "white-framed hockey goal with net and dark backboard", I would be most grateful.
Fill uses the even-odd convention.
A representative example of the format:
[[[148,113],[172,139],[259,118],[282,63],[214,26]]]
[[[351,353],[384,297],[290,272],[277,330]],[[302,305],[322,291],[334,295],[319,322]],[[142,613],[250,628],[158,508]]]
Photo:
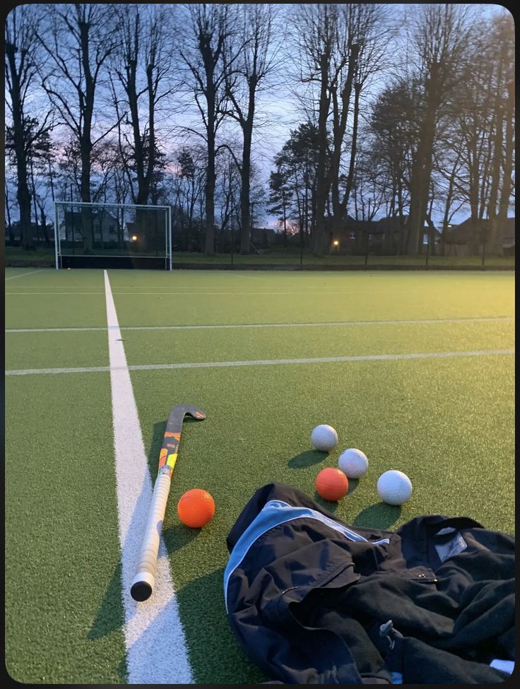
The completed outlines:
[[[172,270],[172,208],[54,202],[56,269]]]

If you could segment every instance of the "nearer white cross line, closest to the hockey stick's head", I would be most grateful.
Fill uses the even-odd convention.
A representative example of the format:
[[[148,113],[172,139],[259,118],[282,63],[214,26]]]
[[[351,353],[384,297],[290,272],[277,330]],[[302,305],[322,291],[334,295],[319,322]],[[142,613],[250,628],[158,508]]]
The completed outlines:
[[[117,331],[119,332],[119,331]],[[114,330],[110,331],[113,335]],[[159,371],[164,369],[181,368],[220,368],[232,366],[276,366],[283,364],[325,364],[350,361],[394,361],[399,359],[436,359],[465,356],[492,356],[514,354],[514,349],[485,349],[460,352],[418,352],[407,354],[362,354],[352,356],[328,356],[308,359],[256,359],[251,361],[196,361],[194,363],[178,364],[133,364],[131,366],[112,365],[93,366],[83,368],[29,368],[22,370],[8,370],[6,375],[31,375],[52,373],[93,373],[100,371]]]

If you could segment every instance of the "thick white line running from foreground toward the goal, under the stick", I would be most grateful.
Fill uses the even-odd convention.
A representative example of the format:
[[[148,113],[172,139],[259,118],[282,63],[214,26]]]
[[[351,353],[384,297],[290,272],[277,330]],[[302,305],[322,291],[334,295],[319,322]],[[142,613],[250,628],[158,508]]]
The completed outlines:
[[[110,281],[104,272],[128,683],[191,684],[194,679],[162,538],[153,595],[145,603],[136,603],[130,596],[153,487]]]

